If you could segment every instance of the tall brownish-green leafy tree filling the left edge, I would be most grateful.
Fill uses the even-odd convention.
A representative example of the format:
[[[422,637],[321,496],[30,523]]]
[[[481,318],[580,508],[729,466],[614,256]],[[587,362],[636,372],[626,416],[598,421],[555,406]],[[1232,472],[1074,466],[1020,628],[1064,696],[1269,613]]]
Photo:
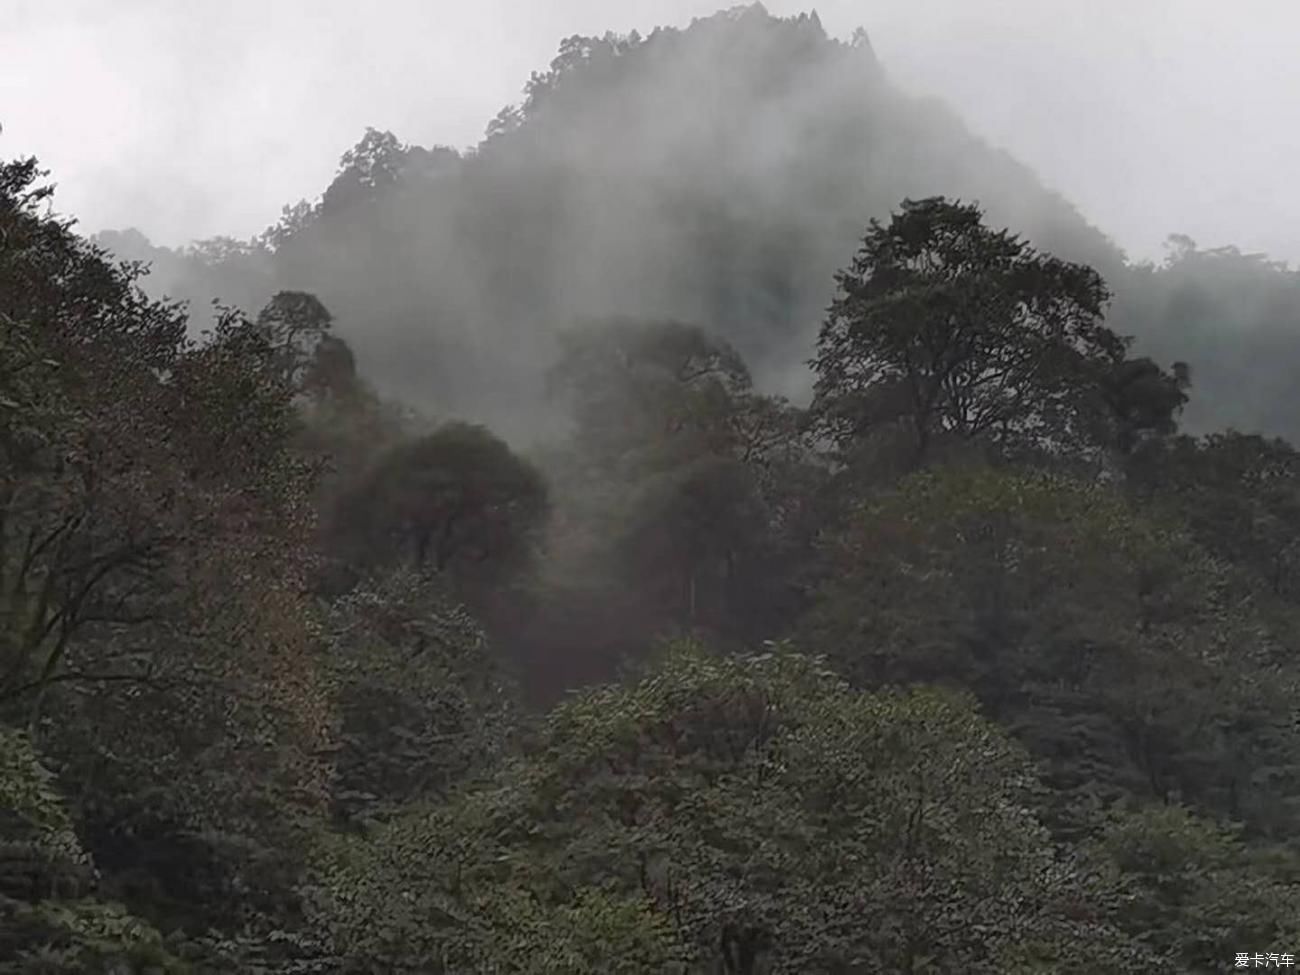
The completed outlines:
[[[168,930],[261,923],[291,913],[325,774],[295,391],[264,330],[188,338],[38,179],[0,166],[0,722],[58,775],[105,896]]]

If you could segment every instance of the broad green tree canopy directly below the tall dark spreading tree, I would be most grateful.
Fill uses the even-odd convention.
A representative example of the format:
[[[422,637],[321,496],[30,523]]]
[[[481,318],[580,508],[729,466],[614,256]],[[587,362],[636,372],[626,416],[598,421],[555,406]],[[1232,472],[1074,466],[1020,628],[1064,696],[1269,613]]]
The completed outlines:
[[[1291,815],[1288,634],[1110,489],[923,474],[864,506],[831,558],[812,645],[867,682],[975,690],[1048,763],[1062,815],[1127,792],[1257,827]]]

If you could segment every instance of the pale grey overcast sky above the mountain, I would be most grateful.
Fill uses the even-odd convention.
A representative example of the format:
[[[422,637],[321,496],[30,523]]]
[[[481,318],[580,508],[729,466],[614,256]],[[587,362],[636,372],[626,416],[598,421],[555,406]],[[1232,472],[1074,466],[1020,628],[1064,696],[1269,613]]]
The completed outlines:
[[[367,125],[465,147],[560,38],[725,0],[0,0],[0,157],[86,231],[248,237]],[[812,9],[770,0],[772,13]],[[1300,263],[1300,0],[822,0],[1135,256],[1169,233]]]

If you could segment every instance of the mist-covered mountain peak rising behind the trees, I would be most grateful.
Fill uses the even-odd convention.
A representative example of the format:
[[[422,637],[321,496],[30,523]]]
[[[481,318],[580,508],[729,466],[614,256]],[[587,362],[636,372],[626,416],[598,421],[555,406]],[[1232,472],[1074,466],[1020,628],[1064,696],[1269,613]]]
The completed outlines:
[[[199,302],[315,291],[386,391],[520,437],[551,337],[576,318],[701,322],[759,385],[801,395],[867,221],[936,194],[1104,273],[1123,265],[1027,168],[893,87],[864,34],[838,42],[815,14],[753,5],[569,38],[476,150],[370,133],[318,204],[160,283]]]

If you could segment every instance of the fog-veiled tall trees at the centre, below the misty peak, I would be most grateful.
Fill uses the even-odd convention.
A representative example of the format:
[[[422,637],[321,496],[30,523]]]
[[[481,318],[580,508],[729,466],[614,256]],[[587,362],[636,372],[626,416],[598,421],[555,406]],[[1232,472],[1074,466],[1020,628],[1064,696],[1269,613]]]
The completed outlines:
[[[573,434],[550,464],[566,504],[552,562],[599,567],[650,634],[771,636],[807,541],[801,411],[757,394],[738,354],[696,326],[606,321],[562,344],[550,378]]]

